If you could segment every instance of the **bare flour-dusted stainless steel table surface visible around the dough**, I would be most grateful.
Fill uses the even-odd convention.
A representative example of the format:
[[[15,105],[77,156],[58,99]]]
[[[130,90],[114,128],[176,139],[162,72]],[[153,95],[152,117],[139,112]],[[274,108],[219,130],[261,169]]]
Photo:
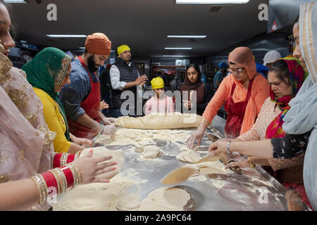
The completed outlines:
[[[194,132],[194,129],[186,130]],[[143,180],[137,187],[132,187],[133,191],[139,191],[142,199],[151,191],[163,186],[160,181],[168,172],[185,165],[175,158],[175,155],[182,151],[178,144],[184,143],[176,144],[173,141],[156,139],[155,136],[152,139],[156,146],[163,150],[163,155],[154,160],[142,158],[142,153],[137,153],[133,145],[106,145],[109,150],[125,151],[125,167],[120,174],[133,174],[135,179]],[[201,156],[208,153],[211,143],[205,134],[199,148]],[[287,210],[287,190],[259,166],[256,169],[242,169],[242,174],[232,171],[225,175],[200,174],[176,186],[184,188],[191,195],[185,210]]]

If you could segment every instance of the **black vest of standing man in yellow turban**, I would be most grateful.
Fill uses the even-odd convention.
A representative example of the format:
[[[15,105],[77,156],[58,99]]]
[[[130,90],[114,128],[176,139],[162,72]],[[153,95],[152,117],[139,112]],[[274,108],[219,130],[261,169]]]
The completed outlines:
[[[134,82],[137,77],[139,77],[139,73],[137,72],[137,68],[135,65],[131,64],[128,66],[127,63],[125,63],[125,60],[122,58],[118,58],[118,61],[116,63],[113,63],[113,65],[116,65],[116,67],[120,71],[120,82]],[[124,89],[123,91],[132,91],[135,94],[135,102],[137,100],[137,86],[131,86],[128,89]],[[123,91],[120,90],[114,90],[112,89],[112,105],[113,108],[120,108],[122,103],[125,101],[125,99],[120,99],[121,93]]]

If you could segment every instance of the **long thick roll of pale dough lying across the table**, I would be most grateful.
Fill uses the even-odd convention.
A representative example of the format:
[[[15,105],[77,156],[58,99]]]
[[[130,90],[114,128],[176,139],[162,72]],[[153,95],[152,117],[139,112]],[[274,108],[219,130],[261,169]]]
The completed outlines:
[[[118,127],[134,129],[180,129],[198,127],[201,116],[182,113],[151,113],[144,117],[119,117]]]

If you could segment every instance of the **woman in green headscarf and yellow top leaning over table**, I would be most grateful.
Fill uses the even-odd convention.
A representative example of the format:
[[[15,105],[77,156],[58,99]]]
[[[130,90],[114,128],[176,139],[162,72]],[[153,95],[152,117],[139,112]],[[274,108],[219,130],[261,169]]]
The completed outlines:
[[[46,124],[51,131],[56,132],[54,150],[58,153],[76,153],[92,146],[92,141],[70,134],[66,114],[58,100],[58,93],[63,85],[70,83],[71,60],[70,56],[59,49],[46,48],[22,68],[27,81],[42,101]]]

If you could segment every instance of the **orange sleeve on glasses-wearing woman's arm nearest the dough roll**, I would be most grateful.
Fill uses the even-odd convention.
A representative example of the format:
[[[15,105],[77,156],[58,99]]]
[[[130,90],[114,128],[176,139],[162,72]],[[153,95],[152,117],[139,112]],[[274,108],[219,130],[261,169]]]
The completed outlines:
[[[221,108],[221,105],[230,97],[230,91],[232,88],[233,80],[230,76],[225,77],[223,82],[220,83],[216,94],[211,98],[211,101],[208,103],[204,114],[202,117],[211,123],[213,117],[218,113],[218,110]]]

